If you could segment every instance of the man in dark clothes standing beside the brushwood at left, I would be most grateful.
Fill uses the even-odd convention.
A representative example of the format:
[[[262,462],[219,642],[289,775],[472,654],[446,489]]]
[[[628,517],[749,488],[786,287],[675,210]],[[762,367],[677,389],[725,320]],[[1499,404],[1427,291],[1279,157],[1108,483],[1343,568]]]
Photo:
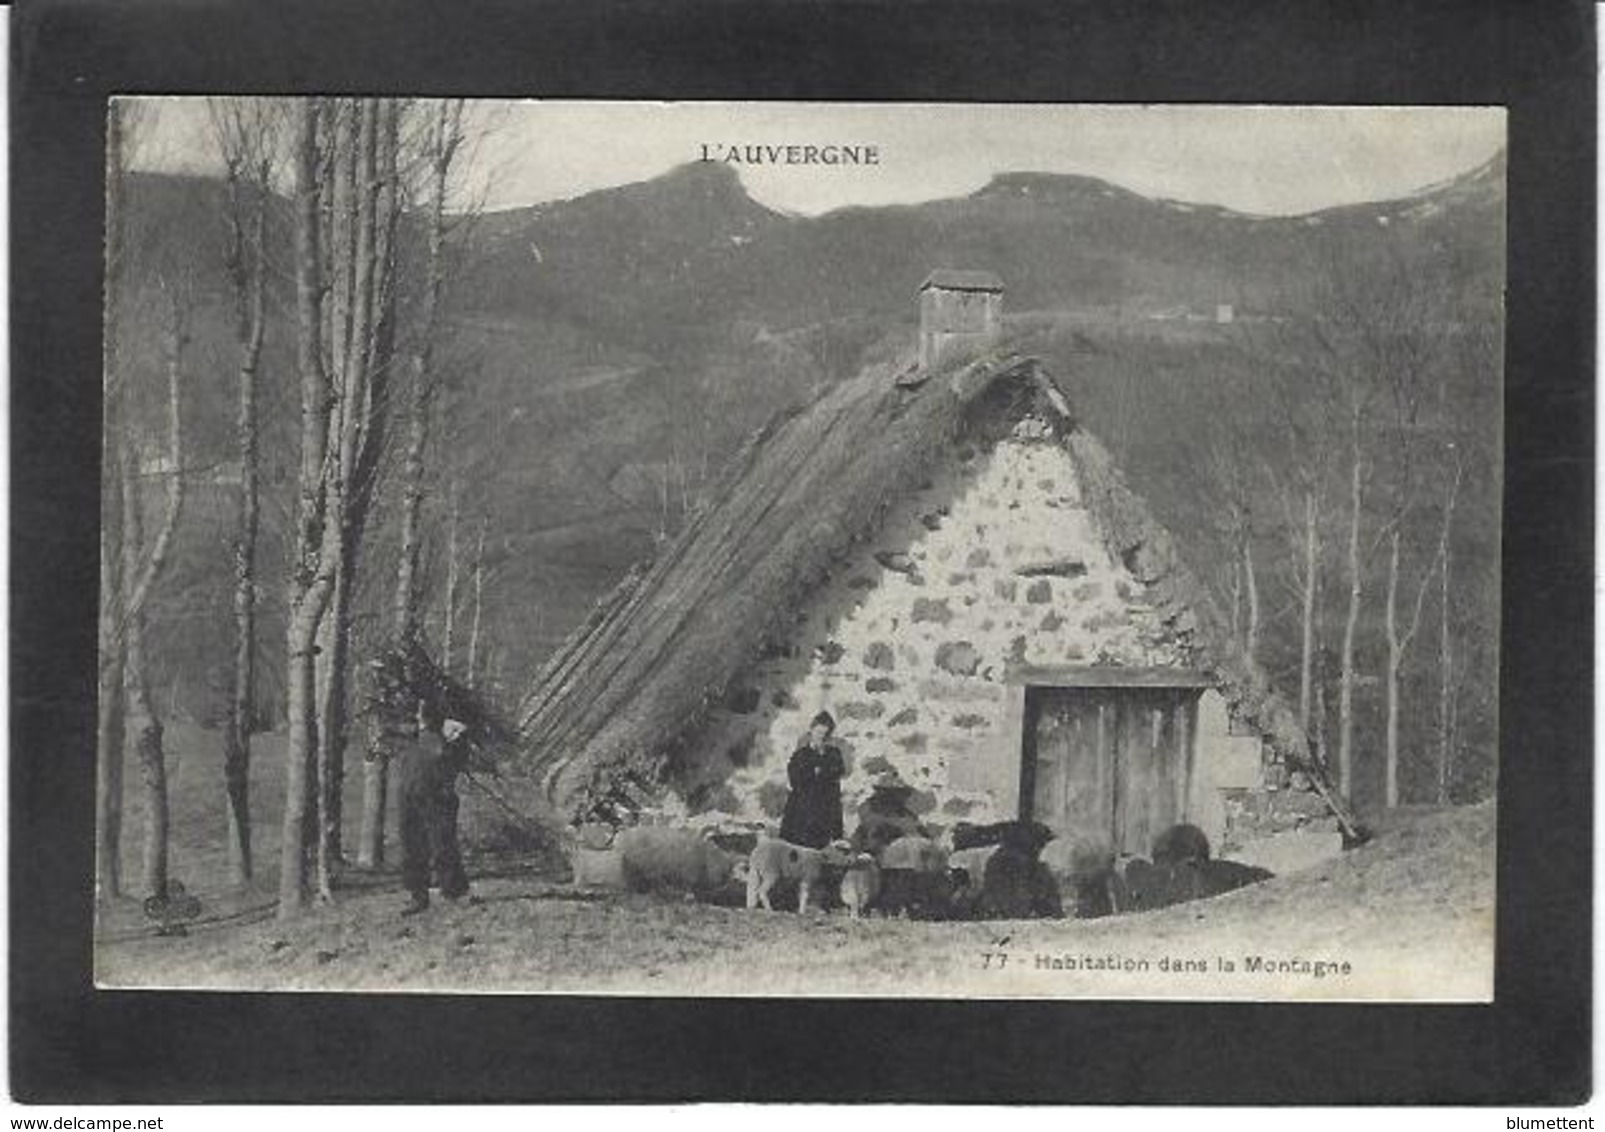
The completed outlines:
[[[437,732],[419,702],[417,739],[401,755],[401,883],[411,896],[401,915],[429,907],[432,870],[448,901],[469,893],[457,848],[457,776],[467,763],[467,726],[446,719]]]

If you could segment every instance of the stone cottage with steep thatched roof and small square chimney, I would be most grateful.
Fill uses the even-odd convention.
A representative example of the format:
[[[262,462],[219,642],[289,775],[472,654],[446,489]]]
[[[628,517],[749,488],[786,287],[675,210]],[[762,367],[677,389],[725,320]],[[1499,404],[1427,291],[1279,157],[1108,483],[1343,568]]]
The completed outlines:
[[[997,344],[995,308],[931,300],[944,279],[921,291],[934,364],[774,421],[549,662],[520,713],[547,796],[573,812],[626,776],[689,824],[772,822],[828,710],[849,827],[896,769],[937,829],[1021,816],[1146,854],[1189,820],[1242,859],[1295,829],[1335,848],[1297,721],[1170,536]]]

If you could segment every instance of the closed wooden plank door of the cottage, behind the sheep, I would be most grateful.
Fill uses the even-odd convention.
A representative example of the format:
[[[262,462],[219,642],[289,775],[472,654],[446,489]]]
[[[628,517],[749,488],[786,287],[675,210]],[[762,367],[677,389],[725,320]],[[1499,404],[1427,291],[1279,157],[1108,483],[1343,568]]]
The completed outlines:
[[[1021,816],[1148,856],[1188,817],[1196,705],[1196,689],[1029,689]]]

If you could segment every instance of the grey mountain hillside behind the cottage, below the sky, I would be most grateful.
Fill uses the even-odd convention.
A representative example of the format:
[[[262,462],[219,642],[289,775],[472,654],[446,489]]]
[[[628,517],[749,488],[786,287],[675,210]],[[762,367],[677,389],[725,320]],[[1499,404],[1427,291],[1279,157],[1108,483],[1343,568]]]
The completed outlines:
[[[197,299],[186,398],[191,456],[228,462],[231,373],[228,294],[220,271],[217,183],[136,177],[130,355],[154,358],[151,281],[185,275]],[[462,230],[453,270],[453,385],[438,448],[454,467],[462,540],[486,530],[485,612],[491,681],[517,694],[595,597],[653,552],[698,504],[740,442],[775,411],[905,348],[915,287],[931,267],[974,265],[1008,284],[1006,308],[1135,485],[1205,560],[1220,531],[1196,496],[1199,414],[1263,417],[1236,374],[1260,364],[1254,342],[1205,321],[1218,303],[1239,315],[1303,313],[1324,275],[1372,257],[1454,265],[1472,318],[1496,318],[1502,287],[1504,157],[1400,201],[1306,217],[1252,217],[1156,201],[1087,177],[1011,172],[963,197],[793,217],[754,202],[733,170],[685,165],[660,178],[528,209],[488,214]],[[270,239],[287,254],[287,214]],[[416,247],[406,255],[416,255]],[[282,576],[274,531],[289,512],[294,381],[287,300],[271,295],[263,406],[268,548],[265,576]],[[146,364],[146,389],[156,382]],[[199,379],[201,374],[207,377]],[[1459,371],[1453,422],[1483,478],[1469,491],[1464,560],[1467,625],[1493,623],[1497,592],[1497,377]],[[180,538],[183,565],[164,581],[152,618],[157,684],[205,719],[223,634],[202,610],[226,609],[226,493],[204,488]],[[443,578],[449,485],[427,501],[435,541],[427,572]],[[382,503],[387,506],[387,503]],[[1266,514],[1271,514],[1266,501]],[[1268,540],[1278,538],[1274,530]],[[392,557],[387,514],[366,552],[372,610],[384,631]],[[278,586],[265,586],[265,681],[282,634]],[[1281,604],[1284,599],[1276,597]],[[438,610],[435,613],[438,633]],[[459,637],[461,639],[461,637]],[[1273,652],[1284,645],[1271,641]],[[1369,662],[1367,662],[1369,663]],[[1485,658],[1491,663],[1491,654]],[[274,692],[263,689],[270,715]],[[1491,724],[1489,724],[1491,726]]]

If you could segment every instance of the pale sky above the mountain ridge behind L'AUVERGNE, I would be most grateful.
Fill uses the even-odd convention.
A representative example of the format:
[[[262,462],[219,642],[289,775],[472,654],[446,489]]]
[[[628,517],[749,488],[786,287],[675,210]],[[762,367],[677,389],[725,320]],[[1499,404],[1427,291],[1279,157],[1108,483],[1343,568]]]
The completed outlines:
[[[136,165],[205,172],[205,101],[159,103]],[[656,177],[729,146],[873,146],[876,165],[740,164],[804,215],[963,196],[1002,172],[1083,173],[1144,196],[1295,215],[1409,194],[1491,157],[1499,108],[482,101],[462,199],[504,209]]]

